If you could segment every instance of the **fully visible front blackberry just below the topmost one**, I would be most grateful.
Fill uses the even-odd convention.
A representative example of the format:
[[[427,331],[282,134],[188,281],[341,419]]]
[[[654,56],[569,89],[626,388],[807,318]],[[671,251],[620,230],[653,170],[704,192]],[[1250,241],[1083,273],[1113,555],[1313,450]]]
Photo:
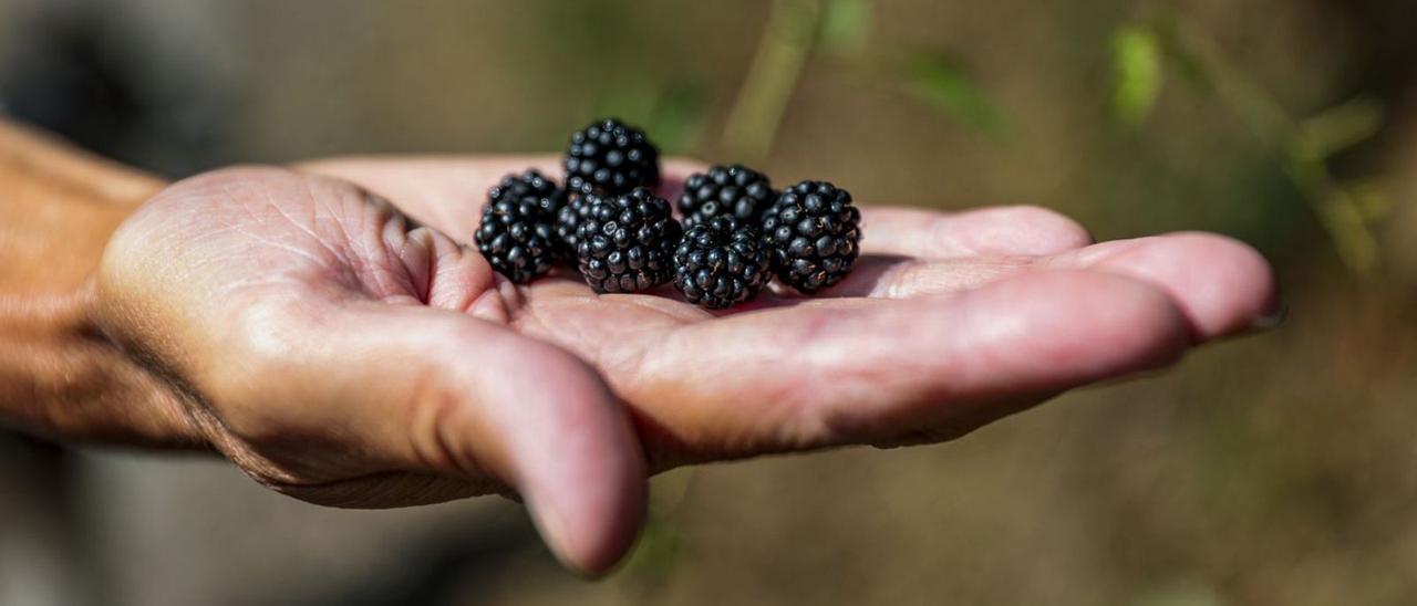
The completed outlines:
[[[674,276],[672,256],[683,229],[665,198],[639,187],[591,198],[575,229],[581,275],[597,292],[645,290]]]

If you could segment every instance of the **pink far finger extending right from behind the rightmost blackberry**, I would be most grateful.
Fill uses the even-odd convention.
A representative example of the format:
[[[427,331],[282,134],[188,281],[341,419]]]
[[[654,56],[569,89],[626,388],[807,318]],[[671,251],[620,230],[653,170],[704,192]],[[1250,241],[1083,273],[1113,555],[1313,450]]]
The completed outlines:
[[[1040,207],[985,207],[962,212],[864,207],[862,252],[920,259],[1054,255],[1093,236],[1076,221]]]

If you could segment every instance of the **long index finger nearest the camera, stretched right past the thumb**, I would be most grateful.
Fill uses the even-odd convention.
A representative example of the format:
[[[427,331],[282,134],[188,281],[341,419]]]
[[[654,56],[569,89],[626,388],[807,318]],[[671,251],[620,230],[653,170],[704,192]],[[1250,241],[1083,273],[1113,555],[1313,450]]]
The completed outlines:
[[[1057,270],[686,326],[640,362],[626,394],[646,402],[642,428],[672,447],[747,456],[888,440],[1168,364],[1187,345],[1186,320],[1159,289]]]

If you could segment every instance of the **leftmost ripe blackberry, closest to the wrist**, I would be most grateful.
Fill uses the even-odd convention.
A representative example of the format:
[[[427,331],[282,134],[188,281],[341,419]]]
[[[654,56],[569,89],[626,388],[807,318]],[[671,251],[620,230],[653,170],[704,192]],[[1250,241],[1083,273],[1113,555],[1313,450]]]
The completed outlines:
[[[492,269],[516,283],[550,272],[555,261],[551,215],[531,195],[487,201],[473,239]]]

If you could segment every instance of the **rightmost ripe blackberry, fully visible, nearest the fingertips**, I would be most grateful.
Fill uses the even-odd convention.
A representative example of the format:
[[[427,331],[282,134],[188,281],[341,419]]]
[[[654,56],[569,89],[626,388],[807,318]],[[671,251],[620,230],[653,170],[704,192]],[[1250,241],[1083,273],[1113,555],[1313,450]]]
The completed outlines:
[[[808,295],[840,282],[860,255],[860,222],[852,194],[830,183],[802,181],[784,190],[762,214],[778,278]]]

